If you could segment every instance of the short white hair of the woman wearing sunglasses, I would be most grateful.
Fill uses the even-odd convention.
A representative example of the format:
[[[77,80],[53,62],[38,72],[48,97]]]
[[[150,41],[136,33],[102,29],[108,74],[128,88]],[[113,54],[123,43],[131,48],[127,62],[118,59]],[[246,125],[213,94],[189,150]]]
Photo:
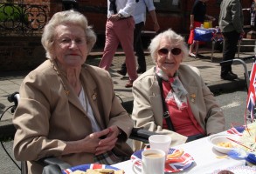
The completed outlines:
[[[181,35],[176,34],[174,30],[165,30],[162,33],[159,33],[151,40],[149,44],[149,52],[153,62],[156,62],[157,50],[159,49],[160,42],[162,38],[169,39],[171,43],[174,43],[177,47],[179,47],[183,52],[183,57],[187,57],[189,55],[189,49],[187,44],[184,42],[184,38]]]

